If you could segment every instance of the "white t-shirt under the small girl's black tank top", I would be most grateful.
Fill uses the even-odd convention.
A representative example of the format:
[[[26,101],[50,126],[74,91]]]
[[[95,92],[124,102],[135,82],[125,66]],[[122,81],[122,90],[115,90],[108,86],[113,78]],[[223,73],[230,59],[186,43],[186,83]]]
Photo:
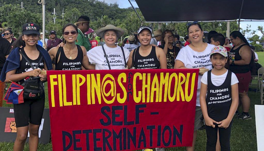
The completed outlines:
[[[228,73],[228,70],[227,72],[225,72],[224,74],[222,75],[214,75],[213,73],[211,73],[211,81],[212,83],[214,84],[214,86],[221,86],[224,81],[225,81],[225,78],[227,77],[227,73]],[[207,74],[208,72],[205,72],[204,75],[202,75],[202,78],[201,78],[201,82],[208,85],[207,81]],[[237,79],[237,76],[232,72],[232,75],[231,75],[231,86],[238,83],[238,79]]]

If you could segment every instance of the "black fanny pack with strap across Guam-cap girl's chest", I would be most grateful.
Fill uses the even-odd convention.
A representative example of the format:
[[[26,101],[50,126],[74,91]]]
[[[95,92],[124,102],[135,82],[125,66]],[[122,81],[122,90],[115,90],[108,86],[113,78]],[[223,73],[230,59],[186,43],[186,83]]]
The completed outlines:
[[[26,59],[26,61],[29,63],[30,67],[34,70],[39,67],[39,64],[41,60],[43,59],[43,56],[41,56],[39,63],[37,64],[36,68],[34,68],[31,64],[31,62],[27,59],[26,54],[19,51],[19,53]],[[40,77],[30,77],[26,79],[25,82],[21,84],[21,86],[24,87],[23,89],[23,99],[24,100],[38,100],[39,98],[43,97],[44,95],[44,86],[43,82],[40,81]]]

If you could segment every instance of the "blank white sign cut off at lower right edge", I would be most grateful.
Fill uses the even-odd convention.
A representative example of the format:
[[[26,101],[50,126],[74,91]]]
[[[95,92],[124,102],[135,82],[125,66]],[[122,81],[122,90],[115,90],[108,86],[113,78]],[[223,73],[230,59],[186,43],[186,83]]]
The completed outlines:
[[[264,148],[264,105],[255,105],[257,147],[258,151]]]

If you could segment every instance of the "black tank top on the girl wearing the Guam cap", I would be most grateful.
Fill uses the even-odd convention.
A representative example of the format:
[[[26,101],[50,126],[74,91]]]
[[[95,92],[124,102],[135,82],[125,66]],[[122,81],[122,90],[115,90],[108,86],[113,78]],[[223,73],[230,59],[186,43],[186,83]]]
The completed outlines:
[[[34,68],[36,68],[36,66],[37,66],[37,64],[39,63],[39,60],[40,60],[40,58],[41,58],[41,54],[39,53],[39,57],[38,57],[37,59],[35,59],[35,60],[31,60],[31,59],[27,56],[27,54],[25,53],[24,48],[21,48],[21,52],[25,54],[25,56],[27,57],[27,59],[31,62],[32,66],[33,66]],[[38,68],[41,69],[41,70],[44,68],[44,60],[42,60],[42,61],[40,62],[40,65],[39,65]],[[19,74],[19,73],[24,73],[24,72],[31,71],[31,70],[32,70],[32,68],[30,67],[29,63],[28,63],[27,60],[22,56],[22,59],[21,59],[21,61],[20,61],[20,66],[17,68],[16,73]],[[27,79],[27,78],[22,79],[22,80],[20,80],[20,81],[17,82],[17,83],[18,83],[18,84],[22,84],[26,79]]]

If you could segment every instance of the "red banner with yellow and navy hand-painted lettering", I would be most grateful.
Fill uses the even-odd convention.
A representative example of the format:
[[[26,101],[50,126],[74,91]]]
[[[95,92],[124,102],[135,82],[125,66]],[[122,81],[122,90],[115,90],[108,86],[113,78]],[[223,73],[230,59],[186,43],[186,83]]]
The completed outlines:
[[[47,71],[53,150],[191,146],[198,72]]]

